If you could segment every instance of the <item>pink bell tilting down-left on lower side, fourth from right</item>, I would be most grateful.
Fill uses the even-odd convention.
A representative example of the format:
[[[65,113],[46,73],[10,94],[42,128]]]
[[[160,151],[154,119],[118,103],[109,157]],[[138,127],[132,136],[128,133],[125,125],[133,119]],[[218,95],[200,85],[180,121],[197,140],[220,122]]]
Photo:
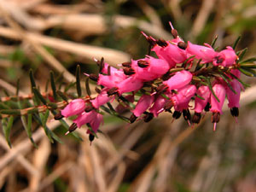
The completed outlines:
[[[182,112],[183,109],[189,108],[189,102],[192,96],[195,96],[196,87],[194,84],[188,84],[177,90],[177,94],[172,96],[174,108],[176,111]]]

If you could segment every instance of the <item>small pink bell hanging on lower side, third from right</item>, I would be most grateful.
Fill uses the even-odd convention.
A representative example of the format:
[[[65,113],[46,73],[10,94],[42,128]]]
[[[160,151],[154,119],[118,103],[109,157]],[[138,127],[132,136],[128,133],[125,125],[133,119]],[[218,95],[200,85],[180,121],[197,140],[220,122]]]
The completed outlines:
[[[196,94],[204,98],[204,100],[202,100],[197,96],[195,97],[195,113],[201,113],[202,110],[207,106],[207,102],[211,96],[211,90],[207,86],[202,85],[198,88],[198,90],[196,90]]]

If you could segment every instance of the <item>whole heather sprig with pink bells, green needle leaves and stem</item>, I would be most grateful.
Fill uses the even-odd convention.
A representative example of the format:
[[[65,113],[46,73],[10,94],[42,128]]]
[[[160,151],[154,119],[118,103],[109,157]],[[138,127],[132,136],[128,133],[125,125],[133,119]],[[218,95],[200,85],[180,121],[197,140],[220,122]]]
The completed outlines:
[[[217,38],[212,44],[192,44],[184,42],[173,27],[172,40],[155,39],[142,33],[149,44],[148,55],[139,60],[117,63],[119,68],[109,66],[103,58],[96,60],[99,73],[84,73],[87,96],[81,94],[79,66],[77,81],[64,90],[56,87],[54,75],[50,73],[51,91],[47,94],[40,93],[31,71],[31,96],[20,97],[17,90],[16,96],[2,98],[0,113],[9,145],[9,131],[17,115],[32,143],[32,119],[44,127],[51,141],[60,141],[46,125],[49,113],[61,121],[67,133],[84,127],[90,141],[94,140],[103,124],[105,113],[131,124],[136,120],[148,122],[166,112],[173,119],[183,115],[193,126],[200,122],[202,113],[210,112],[215,131],[227,97],[231,115],[238,117],[240,93],[248,86],[241,81],[241,73],[249,77],[256,75],[253,63],[256,58],[243,61],[247,49],[235,50],[239,38],[232,47],[218,50],[214,47]],[[157,57],[150,55],[152,51]],[[90,95],[89,79],[98,85],[97,96]],[[73,85],[76,85],[77,93],[68,91]],[[63,118],[73,119],[73,124],[67,125]]]

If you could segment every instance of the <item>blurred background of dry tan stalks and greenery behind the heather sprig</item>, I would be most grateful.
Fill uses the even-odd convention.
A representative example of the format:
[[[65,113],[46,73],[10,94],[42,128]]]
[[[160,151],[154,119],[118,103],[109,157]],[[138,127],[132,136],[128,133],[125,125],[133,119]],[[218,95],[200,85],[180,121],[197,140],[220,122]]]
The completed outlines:
[[[172,39],[169,21],[195,44],[211,44],[218,35],[220,49],[241,35],[236,50],[256,55],[255,0],[1,0],[0,96],[15,95],[17,79],[20,96],[30,94],[30,68],[43,91],[50,70],[68,84],[77,64],[96,73],[94,58],[114,67],[142,58],[148,43],[141,31]],[[50,143],[34,125],[37,149],[17,118],[12,148],[0,135],[0,191],[254,192],[256,81],[242,79],[252,87],[241,96],[238,123],[225,108],[215,132],[210,115],[193,129],[168,113],[130,126],[106,116],[103,134],[90,146],[86,129],[78,130],[81,142],[64,136],[51,117],[47,124],[62,143]]]

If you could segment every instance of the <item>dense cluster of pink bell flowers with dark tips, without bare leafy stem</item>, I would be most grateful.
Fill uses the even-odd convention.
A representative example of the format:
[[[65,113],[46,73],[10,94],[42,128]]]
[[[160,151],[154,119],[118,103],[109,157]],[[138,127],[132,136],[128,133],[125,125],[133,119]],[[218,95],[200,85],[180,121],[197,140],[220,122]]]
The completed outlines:
[[[146,55],[119,64],[119,69],[97,61],[100,73],[86,75],[101,86],[98,96],[86,101],[75,99],[61,110],[61,117],[77,116],[69,132],[88,125],[92,141],[103,121],[102,106],[111,106],[109,102],[114,99],[119,103],[110,109],[119,117],[128,109],[130,123],[137,118],[148,122],[162,112],[169,112],[173,119],[183,115],[189,125],[198,124],[201,113],[210,111],[215,130],[226,96],[231,114],[238,116],[243,85],[239,57],[232,47],[217,51],[213,45],[184,42],[173,27],[173,39],[169,41],[145,33],[143,36],[158,58]],[[191,110],[195,111],[193,117]]]

